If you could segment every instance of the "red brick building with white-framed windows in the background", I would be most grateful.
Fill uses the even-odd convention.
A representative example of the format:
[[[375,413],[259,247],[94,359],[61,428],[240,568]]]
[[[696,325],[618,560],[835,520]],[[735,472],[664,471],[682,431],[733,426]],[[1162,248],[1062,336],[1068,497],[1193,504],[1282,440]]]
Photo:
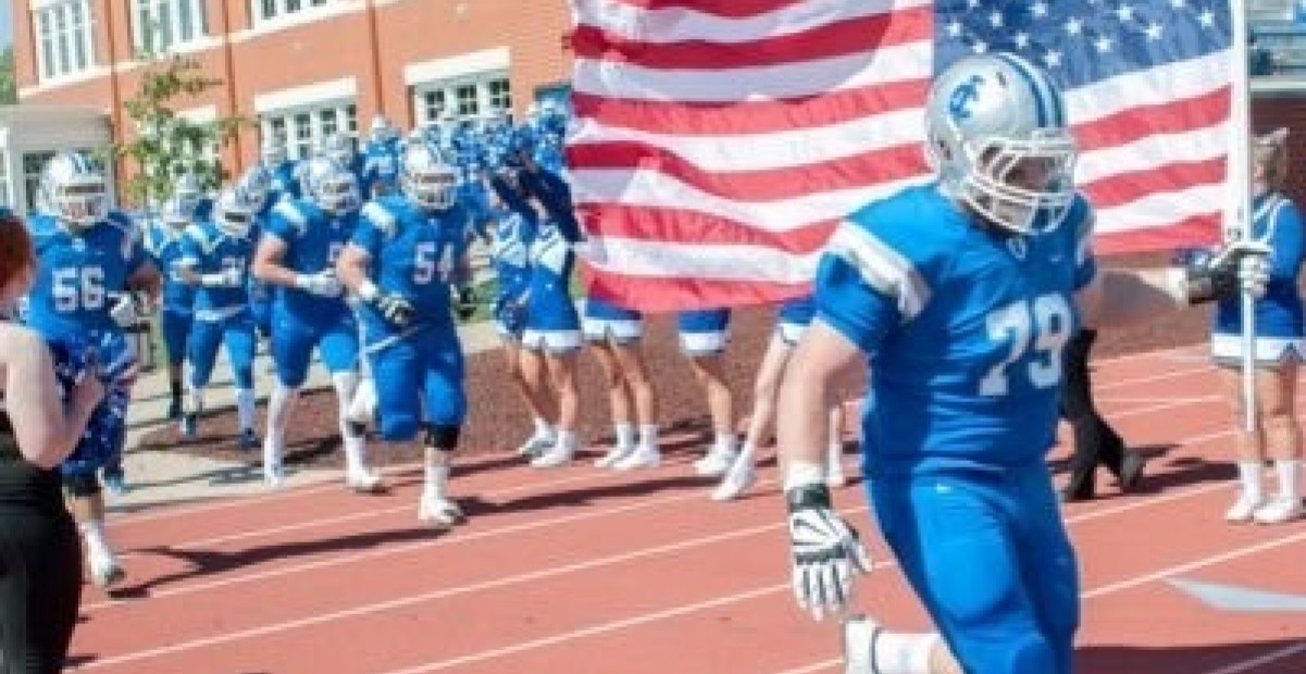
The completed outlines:
[[[218,150],[232,172],[260,133],[302,155],[377,112],[405,129],[441,108],[520,115],[564,94],[569,69],[565,0],[16,0],[13,25],[20,101],[102,106],[118,135],[133,133],[121,103],[138,54],[197,57],[222,85],[179,112],[259,124]],[[40,163],[27,159],[0,163]]]

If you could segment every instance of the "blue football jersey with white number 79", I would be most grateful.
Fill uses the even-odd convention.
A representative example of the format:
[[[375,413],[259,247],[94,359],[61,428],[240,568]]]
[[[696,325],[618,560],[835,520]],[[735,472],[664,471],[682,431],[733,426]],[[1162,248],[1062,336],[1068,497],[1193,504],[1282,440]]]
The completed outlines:
[[[818,316],[870,359],[872,472],[1002,469],[1051,447],[1074,294],[1096,273],[1092,210],[1020,236],[914,187],[850,216],[815,281]],[[874,473],[872,473],[874,474]]]

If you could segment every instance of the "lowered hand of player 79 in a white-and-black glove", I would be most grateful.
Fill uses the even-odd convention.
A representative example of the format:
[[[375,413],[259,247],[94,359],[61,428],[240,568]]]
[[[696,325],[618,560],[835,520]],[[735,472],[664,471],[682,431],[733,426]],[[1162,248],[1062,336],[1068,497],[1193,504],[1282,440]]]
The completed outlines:
[[[785,492],[793,554],[794,600],[820,620],[838,615],[852,602],[857,576],[871,570],[871,556],[852,525],[835,512],[825,485]]]

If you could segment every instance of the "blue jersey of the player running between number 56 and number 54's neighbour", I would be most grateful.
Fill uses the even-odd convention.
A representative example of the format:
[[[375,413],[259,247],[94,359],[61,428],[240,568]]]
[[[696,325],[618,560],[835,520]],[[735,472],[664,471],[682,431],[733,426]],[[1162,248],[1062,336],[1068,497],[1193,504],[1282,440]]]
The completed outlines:
[[[253,240],[249,236],[231,236],[212,221],[191,225],[182,240],[182,260],[195,273],[213,274],[235,269],[242,278],[249,274]],[[195,317],[215,320],[249,306],[246,283],[239,286],[197,286],[195,291]]]

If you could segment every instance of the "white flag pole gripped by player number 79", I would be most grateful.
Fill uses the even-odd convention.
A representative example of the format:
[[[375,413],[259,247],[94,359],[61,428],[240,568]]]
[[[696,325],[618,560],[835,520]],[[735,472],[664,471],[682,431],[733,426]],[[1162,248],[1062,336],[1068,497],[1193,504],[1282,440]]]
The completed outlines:
[[[1247,73],[1249,29],[1246,0],[1230,0],[1232,20],[1230,88],[1232,111],[1229,116],[1229,183],[1233,185],[1225,205],[1225,243],[1238,238],[1251,242],[1251,78]],[[1246,432],[1256,430],[1256,298],[1249,289],[1242,290],[1242,425]]]

